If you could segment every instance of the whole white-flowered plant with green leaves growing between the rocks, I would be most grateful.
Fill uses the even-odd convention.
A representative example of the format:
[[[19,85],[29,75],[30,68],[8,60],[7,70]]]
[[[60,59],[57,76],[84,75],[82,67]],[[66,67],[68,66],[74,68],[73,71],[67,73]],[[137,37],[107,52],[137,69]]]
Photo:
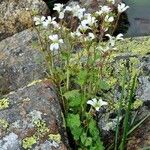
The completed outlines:
[[[108,2],[115,4],[114,0]],[[108,112],[112,111],[113,98],[108,95],[112,95],[109,91],[116,87],[120,79],[115,72],[116,80],[111,82],[114,68],[110,64],[118,51],[116,42],[123,40],[123,34],[114,37],[110,35],[110,28],[116,27],[116,20],[128,6],[118,4],[117,14],[113,8],[99,6],[98,11],[87,13],[79,5],[65,7],[55,4],[58,18],[34,18],[35,25],[40,25],[37,28],[41,29],[41,44],[46,41],[42,50],[49,65],[48,73],[59,89],[66,124],[79,149],[104,149],[95,116],[104,107]],[[75,28],[68,27],[66,13],[71,15],[71,24],[74,20],[78,21]],[[104,42],[104,39],[108,41]],[[118,103],[115,100],[113,102],[113,110],[118,111],[115,107]],[[110,124],[114,126],[114,123],[107,125]],[[108,127],[102,129],[108,130]]]

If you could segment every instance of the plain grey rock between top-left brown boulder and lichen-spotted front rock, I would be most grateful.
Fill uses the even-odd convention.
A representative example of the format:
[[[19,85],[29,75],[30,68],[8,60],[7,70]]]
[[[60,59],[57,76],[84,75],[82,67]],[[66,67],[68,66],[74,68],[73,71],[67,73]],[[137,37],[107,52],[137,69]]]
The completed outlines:
[[[42,54],[33,48],[32,42],[37,42],[37,34],[31,29],[0,42],[0,93],[8,93],[45,77]]]

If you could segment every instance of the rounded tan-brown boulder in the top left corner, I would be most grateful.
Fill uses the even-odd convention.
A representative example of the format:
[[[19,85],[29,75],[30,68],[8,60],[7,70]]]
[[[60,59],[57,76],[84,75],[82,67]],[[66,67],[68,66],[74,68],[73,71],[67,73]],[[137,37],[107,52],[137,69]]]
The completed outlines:
[[[0,40],[30,28],[33,11],[36,15],[44,15],[48,7],[42,0],[1,0]]]

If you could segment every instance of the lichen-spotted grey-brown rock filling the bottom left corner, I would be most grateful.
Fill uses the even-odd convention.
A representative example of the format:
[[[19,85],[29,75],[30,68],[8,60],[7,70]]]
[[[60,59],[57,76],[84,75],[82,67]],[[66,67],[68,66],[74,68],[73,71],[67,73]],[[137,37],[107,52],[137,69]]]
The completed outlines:
[[[50,80],[32,82],[4,99],[8,107],[0,109],[1,150],[67,149],[63,115]]]

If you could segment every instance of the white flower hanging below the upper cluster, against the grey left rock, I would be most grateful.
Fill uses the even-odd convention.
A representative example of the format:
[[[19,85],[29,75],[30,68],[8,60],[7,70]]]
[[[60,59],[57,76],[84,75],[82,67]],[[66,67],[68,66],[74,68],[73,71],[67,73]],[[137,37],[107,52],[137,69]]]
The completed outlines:
[[[54,34],[54,35],[50,35],[49,39],[53,42],[50,45],[50,50],[58,50],[59,49],[59,44],[64,43],[63,39],[58,39],[58,35]]]

